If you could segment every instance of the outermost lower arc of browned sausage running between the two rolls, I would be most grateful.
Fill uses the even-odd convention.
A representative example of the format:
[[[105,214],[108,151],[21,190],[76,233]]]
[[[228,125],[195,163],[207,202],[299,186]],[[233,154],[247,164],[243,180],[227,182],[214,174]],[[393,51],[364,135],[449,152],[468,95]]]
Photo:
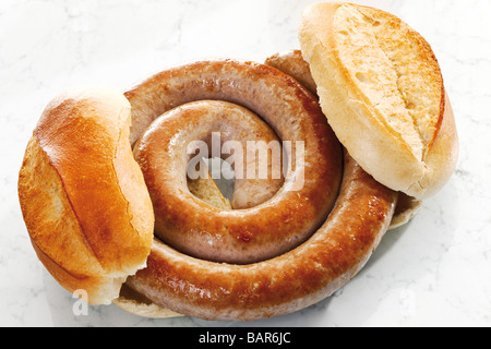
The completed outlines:
[[[384,236],[396,193],[375,182],[349,156],[336,206],[299,248],[250,264],[213,263],[155,240],[147,267],[128,285],[153,302],[207,320],[252,321],[291,313],[343,287]]]

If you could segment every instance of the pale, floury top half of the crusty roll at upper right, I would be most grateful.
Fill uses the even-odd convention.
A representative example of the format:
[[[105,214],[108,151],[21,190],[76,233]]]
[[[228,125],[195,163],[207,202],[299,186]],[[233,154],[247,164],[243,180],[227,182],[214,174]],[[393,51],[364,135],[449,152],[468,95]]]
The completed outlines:
[[[384,185],[423,200],[453,173],[454,116],[430,45],[381,10],[316,3],[299,39],[339,141]]]

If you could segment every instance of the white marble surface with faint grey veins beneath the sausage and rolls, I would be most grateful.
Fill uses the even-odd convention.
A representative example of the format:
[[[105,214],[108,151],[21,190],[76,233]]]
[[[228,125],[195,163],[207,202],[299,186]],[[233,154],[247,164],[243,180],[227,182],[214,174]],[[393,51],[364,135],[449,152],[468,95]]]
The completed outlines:
[[[310,0],[0,1],[0,326],[248,326],[144,320],[115,305],[74,315],[22,220],[16,180],[48,100],[67,87],[123,89],[200,58],[263,61],[298,47]],[[460,135],[458,169],[334,297],[258,326],[491,325],[491,35],[488,0],[356,1],[418,29],[440,60]]]

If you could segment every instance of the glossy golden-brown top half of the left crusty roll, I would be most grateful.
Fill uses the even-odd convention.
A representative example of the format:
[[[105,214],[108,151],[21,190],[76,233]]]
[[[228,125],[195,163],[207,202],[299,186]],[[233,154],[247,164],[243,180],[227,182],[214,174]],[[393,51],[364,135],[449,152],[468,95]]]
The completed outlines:
[[[20,203],[39,260],[91,304],[118,298],[127,277],[146,265],[153,242],[153,206],[129,142],[130,109],[106,88],[57,97],[20,171]]]

